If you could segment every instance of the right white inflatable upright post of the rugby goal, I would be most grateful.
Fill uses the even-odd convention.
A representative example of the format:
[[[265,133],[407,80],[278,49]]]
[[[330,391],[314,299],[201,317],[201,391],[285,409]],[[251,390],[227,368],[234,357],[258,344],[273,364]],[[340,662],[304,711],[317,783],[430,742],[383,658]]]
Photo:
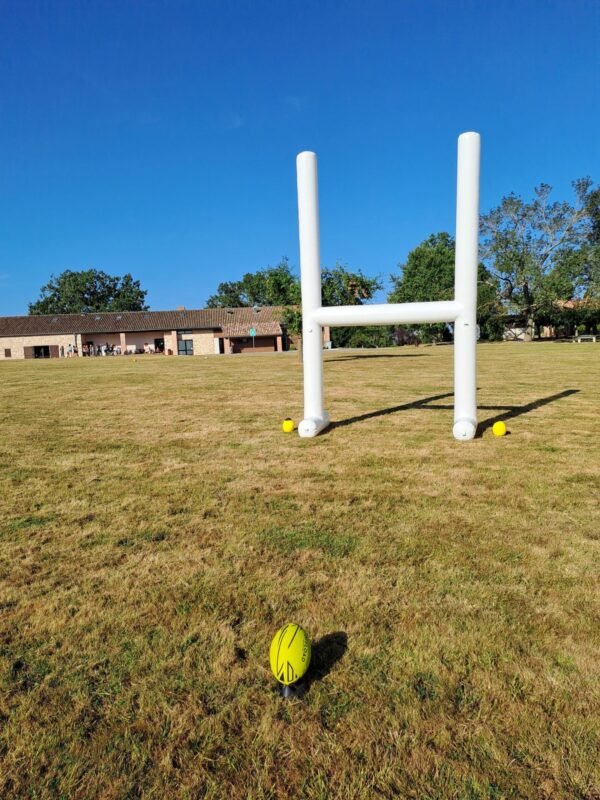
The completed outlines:
[[[477,431],[477,268],[479,263],[478,133],[458,138],[456,189],[456,256],[454,299],[460,306],[454,323],[455,439],[472,439]]]

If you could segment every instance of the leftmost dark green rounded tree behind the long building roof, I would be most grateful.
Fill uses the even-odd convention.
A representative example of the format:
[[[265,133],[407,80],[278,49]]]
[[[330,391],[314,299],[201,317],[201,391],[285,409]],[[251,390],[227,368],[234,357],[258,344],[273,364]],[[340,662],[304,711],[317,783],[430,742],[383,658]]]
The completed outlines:
[[[65,270],[51,276],[29,313],[79,314],[92,311],[145,311],[147,292],[127,273],[122,278],[95,269]]]

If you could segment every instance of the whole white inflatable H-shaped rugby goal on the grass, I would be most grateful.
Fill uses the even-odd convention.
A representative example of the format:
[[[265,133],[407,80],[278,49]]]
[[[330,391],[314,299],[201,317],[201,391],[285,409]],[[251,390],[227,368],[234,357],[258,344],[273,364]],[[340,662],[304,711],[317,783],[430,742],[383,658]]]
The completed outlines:
[[[458,137],[454,300],[328,307],[323,306],[321,297],[317,156],[308,151],[298,155],[296,167],[304,357],[304,419],[298,426],[300,436],[316,436],[329,425],[323,395],[324,325],[347,327],[426,322],[454,323],[453,433],[455,439],[464,441],[475,436],[479,156],[479,134],[461,134]]]

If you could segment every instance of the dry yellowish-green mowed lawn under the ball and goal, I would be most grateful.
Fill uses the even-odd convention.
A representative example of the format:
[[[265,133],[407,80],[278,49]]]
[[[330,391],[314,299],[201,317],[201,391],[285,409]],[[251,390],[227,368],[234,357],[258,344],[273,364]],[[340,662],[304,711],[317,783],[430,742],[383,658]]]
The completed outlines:
[[[598,800],[600,346],[478,356],[0,364],[0,796]]]

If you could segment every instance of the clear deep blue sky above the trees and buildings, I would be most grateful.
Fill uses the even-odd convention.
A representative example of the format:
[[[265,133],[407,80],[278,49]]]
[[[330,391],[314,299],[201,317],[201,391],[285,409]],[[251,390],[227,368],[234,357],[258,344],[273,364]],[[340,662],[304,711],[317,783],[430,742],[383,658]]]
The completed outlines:
[[[597,0],[0,0],[0,314],[52,273],[131,272],[153,309],[298,265],[295,156],[322,261],[384,278],[482,210],[600,179]]]

